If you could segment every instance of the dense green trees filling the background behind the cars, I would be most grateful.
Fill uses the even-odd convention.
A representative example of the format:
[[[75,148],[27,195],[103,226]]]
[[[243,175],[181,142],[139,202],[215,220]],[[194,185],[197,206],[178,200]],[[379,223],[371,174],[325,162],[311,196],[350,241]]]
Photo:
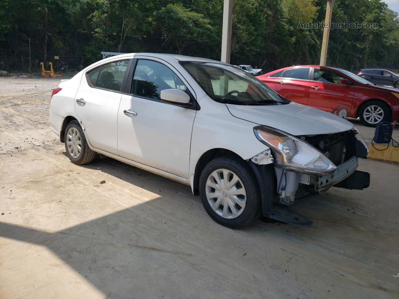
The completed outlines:
[[[318,64],[326,0],[234,0],[231,63],[264,70]],[[0,69],[32,71],[41,61],[79,70],[101,51],[179,53],[220,59],[223,0],[0,0]],[[381,0],[336,0],[328,65],[356,71],[399,65],[399,19]],[[30,50],[29,50],[30,39]],[[59,61],[54,60],[59,56]],[[47,64],[47,63],[46,63]]]

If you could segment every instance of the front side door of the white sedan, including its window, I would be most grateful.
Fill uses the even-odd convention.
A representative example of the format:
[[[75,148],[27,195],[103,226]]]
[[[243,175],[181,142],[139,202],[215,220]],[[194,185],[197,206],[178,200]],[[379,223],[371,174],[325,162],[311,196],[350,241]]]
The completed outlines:
[[[118,112],[119,155],[188,178],[196,110],[162,103],[160,92],[171,88],[190,96],[194,92],[166,62],[135,58],[130,94],[122,95]]]

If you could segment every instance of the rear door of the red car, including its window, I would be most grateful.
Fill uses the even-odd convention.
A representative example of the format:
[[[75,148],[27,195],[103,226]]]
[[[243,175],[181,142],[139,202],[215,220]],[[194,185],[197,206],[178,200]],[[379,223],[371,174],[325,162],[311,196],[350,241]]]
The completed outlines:
[[[287,100],[308,104],[310,67],[287,69],[275,81],[277,92]]]

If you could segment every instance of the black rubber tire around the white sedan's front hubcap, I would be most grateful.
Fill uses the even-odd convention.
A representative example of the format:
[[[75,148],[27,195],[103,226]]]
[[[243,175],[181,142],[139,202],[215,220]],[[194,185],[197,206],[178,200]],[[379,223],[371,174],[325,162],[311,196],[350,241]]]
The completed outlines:
[[[245,207],[241,214],[236,218],[223,218],[211,208],[211,205],[207,200],[205,189],[206,182],[209,175],[217,169],[227,169],[232,171],[239,177],[245,187]],[[209,216],[211,216],[211,218],[217,223],[229,228],[243,228],[253,222],[253,220],[261,214],[261,192],[259,190],[257,178],[255,177],[251,167],[249,167],[245,161],[239,160],[235,157],[218,157],[205,166],[199,178],[199,195],[201,196],[202,205]]]

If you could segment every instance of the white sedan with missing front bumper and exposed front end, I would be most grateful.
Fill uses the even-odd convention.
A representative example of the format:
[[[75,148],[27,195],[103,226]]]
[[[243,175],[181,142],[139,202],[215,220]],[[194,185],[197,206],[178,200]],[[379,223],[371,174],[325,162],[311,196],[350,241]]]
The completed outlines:
[[[209,216],[231,228],[261,214],[308,224],[281,207],[333,185],[369,183],[356,171],[367,147],[352,123],[209,59],[98,61],[53,90],[50,123],[73,163],[101,153],[190,185]]]

